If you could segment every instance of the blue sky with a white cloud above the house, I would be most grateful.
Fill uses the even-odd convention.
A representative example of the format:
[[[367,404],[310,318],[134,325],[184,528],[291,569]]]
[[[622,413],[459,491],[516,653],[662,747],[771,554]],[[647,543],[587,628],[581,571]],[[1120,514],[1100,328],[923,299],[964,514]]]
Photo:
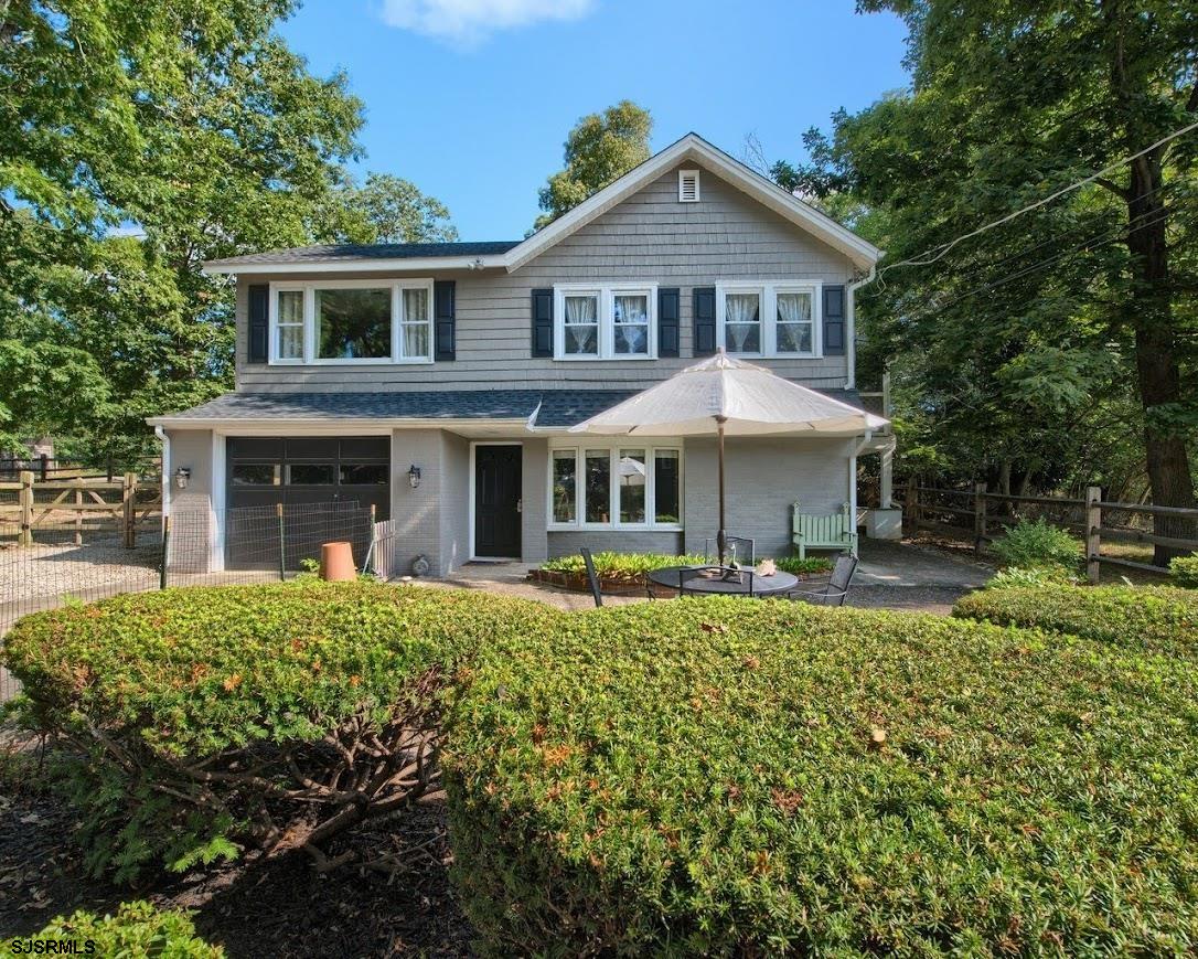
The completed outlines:
[[[282,25],[367,105],[359,171],[413,181],[464,240],[520,239],[580,116],[629,98],[660,150],[688,131],[733,156],[800,156],[907,84],[902,24],[853,0],[305,0]]]

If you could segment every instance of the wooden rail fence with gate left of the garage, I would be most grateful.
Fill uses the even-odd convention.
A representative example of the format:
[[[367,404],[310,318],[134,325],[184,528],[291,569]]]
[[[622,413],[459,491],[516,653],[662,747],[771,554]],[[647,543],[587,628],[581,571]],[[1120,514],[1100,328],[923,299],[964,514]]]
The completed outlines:
[[[84,531],[95,529],[89,520],[98,519],[120,533],[126,549],[133,549],[139,526],[161,512],[161,487],[141,482],[135,472],[113,482],[81,477],[43,482],[24,471],[18,482],[0,483],[0,529],[16,525],[19,547],[32,545],[40,529],[73,530],[75,543],[81,543]]]

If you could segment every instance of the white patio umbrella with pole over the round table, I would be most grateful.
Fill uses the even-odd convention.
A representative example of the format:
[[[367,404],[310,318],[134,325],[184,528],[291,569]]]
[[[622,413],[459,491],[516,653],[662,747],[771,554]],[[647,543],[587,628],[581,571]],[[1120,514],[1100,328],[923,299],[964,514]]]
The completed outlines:
[[[888,426],[815,390],[785,380],[764,367],[733,360],[721,350],[665,382],[592,416],[570,433],[629,436],[719,438],[720,530],[724,562],[724,436],[858,436]]]

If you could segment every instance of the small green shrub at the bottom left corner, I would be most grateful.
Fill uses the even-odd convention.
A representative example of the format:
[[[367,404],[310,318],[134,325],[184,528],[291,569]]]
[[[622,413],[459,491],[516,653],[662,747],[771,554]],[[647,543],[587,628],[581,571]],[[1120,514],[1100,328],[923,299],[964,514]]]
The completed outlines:
[[[30,939],[34,942],[30,942]],[[59,916],[31,937],[5,936],[4,941],[20,942],[20,952],[32,953],[37,940],[78,943],[60,952],[95,955],[156,955],[162,959],[220,959],[224,949],[198,939],[186,912],[159,911],[146,901],[125,903],[115,916],[75,912],[69,918]],[[91,941],[92,948],[84,943]],[[16,946],[13,952],[18,952]],[[49,951],[47,951],[49,952]]]

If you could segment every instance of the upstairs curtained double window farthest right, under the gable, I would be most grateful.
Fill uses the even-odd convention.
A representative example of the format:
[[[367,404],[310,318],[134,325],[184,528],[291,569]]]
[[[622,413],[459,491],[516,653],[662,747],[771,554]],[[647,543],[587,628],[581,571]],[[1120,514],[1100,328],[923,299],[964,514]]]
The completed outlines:
[[[819,291],[817,282],[718,284],[718,342],[732,356],[818,357]]]

